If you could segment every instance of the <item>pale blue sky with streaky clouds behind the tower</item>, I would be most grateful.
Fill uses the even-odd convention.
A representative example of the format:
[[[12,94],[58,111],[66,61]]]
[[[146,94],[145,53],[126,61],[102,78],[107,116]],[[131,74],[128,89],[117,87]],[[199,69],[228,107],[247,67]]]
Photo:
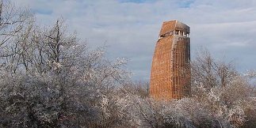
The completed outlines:
[[[107,57],[128,58],[136,81],[149,81],[151,59],[163,21],[190,27],[192,60],[207,48],[214,58],[256,69],[256,0],[10,0],[32,10],[40,24],[63,17],[90,47],[107,46]]]

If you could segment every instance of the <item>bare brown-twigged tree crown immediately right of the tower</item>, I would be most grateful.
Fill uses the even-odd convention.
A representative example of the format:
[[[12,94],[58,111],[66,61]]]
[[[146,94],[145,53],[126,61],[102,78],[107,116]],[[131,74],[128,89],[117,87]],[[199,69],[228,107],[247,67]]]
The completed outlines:
[[[191,62],[192,84],[204,85],[206,88],[224,87],[239,75],[233,62],[216,61],[207,50],[197,52]]]

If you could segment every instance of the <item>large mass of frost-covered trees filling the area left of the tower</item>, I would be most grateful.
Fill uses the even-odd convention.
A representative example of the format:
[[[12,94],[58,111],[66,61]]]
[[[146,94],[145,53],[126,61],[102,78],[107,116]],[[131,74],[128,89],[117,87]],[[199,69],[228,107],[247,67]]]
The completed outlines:
[[[17,13],[15,17],[20,15]],[[107,101],[115,105],[107,104],[107,108],[113,112],[118,108],[117,99],[113,99],[114,90],[129,81],[129,72],[124,67],[126,60],[105,58],[105,47],[90,50],[78,42],[75,34],[65,30],[62,21],[56,21],[52,28],[29,23],[29,26],[25,22],[20,24],[24,29],[8,37],[1,35],[4,52],[0,69],[0,126],[111,127],[119,124],[116,115],[109,118],[104,104],[110,99]],[[4,28],[1,32],[6,32]],[[5,40],[9,37],[11,41]],[[7,41],[10,41],[8,45]]]

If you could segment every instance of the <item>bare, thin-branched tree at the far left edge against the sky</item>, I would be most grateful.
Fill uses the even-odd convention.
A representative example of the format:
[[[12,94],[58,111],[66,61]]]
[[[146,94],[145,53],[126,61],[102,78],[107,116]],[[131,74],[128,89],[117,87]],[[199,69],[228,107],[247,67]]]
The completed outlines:
[[[1,67],[15,72],[21,63],[27,40],[33,24],[28,9],[18,9],[10,2],[0,4],[0,59]],[[17,38],[21,38],[17,40]],[[23,47],[22,47],[23,46]]]

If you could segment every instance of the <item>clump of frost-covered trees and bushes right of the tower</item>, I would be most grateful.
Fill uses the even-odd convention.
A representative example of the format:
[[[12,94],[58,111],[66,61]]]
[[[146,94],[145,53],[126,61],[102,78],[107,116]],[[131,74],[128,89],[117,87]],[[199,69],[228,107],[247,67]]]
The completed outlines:
[[[255,111],[252,77],[238,73],[232,62],[216,61],[202,51],[192,62],[192,74],[192,98],[206,104],[223,124],[243,126],[246,111]]]

